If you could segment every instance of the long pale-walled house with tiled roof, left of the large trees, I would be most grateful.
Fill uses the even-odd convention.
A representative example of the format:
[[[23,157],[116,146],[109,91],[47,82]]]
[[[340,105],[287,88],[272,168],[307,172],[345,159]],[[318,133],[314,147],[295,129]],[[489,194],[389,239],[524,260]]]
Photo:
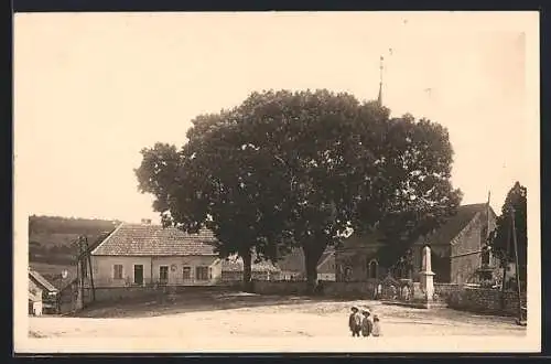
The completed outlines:
[[[94,285],[216,285],[222,260],[214,250],[215,242],[209,231],[186,234],[174,227],[122,223],[90,253]]]

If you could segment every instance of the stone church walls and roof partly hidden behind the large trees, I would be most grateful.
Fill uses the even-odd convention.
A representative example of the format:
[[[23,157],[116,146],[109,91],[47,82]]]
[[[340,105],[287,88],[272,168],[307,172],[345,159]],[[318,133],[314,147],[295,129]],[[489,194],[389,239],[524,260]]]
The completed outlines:
[[[437,282],[464,283],[472,280],[483,267],[494,269],[497,263],[485,256],[483,248],[488,228],[493,231],[495,226],[496,214],[487,204],[460,206],[457,213],[441,227],[420,237],[409,247],[403,258],[410,265],[409,277],[400,278],[419,279],[424,246],[431,247],[432,271]],[[381,238],[379,232],[361,236],[353,234],[346,238],[335,253],[336,279],[367,281],[393,274],[388,259],[381,259],[381,251],[386,247]],[[393,261],[400,258],[396,256]]]

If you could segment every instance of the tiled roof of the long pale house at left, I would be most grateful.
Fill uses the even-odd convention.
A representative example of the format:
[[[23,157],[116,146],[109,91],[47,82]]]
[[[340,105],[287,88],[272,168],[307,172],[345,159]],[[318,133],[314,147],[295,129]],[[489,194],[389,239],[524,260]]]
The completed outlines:
[[[91,255],[107,256],[215,256],[210,231],[187,234],[175,227],[122,223]]]

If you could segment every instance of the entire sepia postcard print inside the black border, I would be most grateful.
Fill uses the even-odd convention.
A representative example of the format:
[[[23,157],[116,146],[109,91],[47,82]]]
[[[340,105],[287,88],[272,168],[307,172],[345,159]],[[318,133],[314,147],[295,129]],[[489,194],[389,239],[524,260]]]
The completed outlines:
[[[14,14],[15,353],[540,352],[538,19]]]

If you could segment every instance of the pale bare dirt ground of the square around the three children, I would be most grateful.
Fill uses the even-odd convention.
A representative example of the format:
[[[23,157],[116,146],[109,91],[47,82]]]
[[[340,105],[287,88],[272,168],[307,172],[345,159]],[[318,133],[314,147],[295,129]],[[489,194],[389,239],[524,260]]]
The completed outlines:
[[[385,336],[525,335],[511,318],[449,309],[410,309],[370,301],[328,301],[237,293],[181,295],[174,301],[97,307],[82,317],[30,318],[33,338],[307,338],[348,336],[352,304],[368,306]]]

